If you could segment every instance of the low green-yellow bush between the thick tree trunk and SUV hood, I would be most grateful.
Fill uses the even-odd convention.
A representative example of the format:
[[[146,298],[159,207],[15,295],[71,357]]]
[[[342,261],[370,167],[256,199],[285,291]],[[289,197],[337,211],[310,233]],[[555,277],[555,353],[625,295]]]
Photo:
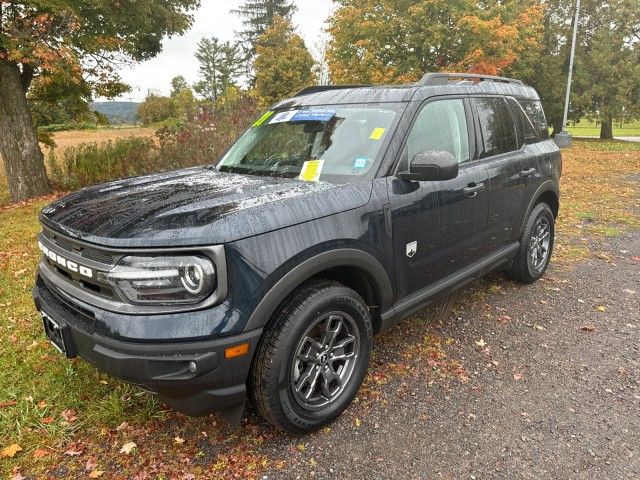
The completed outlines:
[[[54,185],[63,190],[74,190],[174,168],[160,159],[153,139],[131,137],[69,147],[60,160],[53,150],[49,165]]]

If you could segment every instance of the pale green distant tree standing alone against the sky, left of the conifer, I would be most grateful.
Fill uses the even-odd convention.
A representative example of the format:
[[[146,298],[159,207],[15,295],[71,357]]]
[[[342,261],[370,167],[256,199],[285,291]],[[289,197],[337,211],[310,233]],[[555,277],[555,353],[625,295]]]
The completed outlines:
[[[198,42],[196,58],[200,62],[200,78],[195,90],[210,102],[230,86],[235,86],[244,66],[240,46],[231,42],[220,43],[216,37]]]

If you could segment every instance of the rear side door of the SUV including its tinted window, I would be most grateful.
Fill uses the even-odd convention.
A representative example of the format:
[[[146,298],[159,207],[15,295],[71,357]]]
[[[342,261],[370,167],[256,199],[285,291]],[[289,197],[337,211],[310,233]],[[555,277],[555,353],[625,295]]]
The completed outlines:
[[[477,97],[472,104],[479,132],[478,159],[485,165],[490,183],[487,247],[492,251],[518,237],[529,163],[507,100]],[[529,173],[534,175],[531,168]]]

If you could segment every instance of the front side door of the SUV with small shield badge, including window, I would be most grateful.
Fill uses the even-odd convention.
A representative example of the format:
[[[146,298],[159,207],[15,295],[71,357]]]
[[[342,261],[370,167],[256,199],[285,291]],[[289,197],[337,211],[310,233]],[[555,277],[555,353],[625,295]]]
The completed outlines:
[[[485,253],[489,181],[473,156],[469,104],[433,100],[416,117],[399,171],[423,151],[447,151],[460,162],[457,178],[415,182],[389,177],[396,290],[414,293],[478,260]]]

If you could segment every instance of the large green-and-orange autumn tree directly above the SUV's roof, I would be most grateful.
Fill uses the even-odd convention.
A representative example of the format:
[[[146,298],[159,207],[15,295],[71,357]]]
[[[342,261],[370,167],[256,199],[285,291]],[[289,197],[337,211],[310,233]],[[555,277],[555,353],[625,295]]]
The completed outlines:
[[[327,51],[336,83],[404,83],[441,70],[500,74],[542,35],[535,1],[336,3]]]

